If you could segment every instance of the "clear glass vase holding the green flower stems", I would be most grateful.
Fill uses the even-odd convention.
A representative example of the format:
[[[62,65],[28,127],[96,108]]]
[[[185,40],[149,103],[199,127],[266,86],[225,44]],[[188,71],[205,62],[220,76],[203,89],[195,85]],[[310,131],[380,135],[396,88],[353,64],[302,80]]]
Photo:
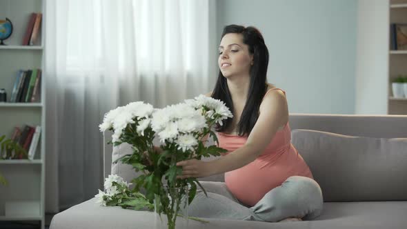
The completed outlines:
[[[154,199],[155,229],[188,228],[188,186],[163,190],[165,195],[156,194]]]

